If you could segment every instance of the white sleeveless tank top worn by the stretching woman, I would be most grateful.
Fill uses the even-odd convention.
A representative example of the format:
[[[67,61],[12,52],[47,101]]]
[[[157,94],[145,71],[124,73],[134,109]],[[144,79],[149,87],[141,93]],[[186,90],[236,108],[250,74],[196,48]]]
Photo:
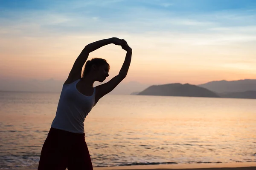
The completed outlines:
[[[76,88],[80,80],[63,85],[51,127],[72,133],[84,133],[84,119],[95,106],[95,87],[93,95],[83,95]]]

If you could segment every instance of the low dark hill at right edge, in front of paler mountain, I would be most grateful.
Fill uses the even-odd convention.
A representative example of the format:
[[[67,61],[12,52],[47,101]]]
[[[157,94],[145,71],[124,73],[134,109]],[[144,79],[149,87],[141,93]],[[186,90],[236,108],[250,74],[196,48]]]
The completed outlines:
[[[256,91],[219,93],[222,98],[255,98]]]

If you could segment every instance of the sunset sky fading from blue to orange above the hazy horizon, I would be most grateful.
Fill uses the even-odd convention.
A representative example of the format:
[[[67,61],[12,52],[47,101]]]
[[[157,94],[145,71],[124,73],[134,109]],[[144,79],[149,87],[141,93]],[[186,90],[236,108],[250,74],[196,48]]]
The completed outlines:
[[[0,0],[0,90],[63,82],[84,46],[110,37],[133,49],[126,84],[256,79],[255,0]],[[94,57],[110,64],[109,81],[125,51]]]

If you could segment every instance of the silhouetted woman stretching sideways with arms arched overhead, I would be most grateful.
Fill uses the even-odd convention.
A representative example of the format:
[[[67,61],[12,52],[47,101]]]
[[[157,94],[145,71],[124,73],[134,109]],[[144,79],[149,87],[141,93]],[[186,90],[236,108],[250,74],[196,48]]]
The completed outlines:
[[[126,51],[125,61],[118,75],[105,84],[93,87],[95,81],[108,77],[109,64],[101,58],[87,61],[90,52],[113,43]],[[38,170],[93,170],[84,138],[84,119],[104,95],[111,92],[127,75],[132,49],[125,40],[113,37],[90,43],[76,59],[65,81],[57,112],[44,142]]]

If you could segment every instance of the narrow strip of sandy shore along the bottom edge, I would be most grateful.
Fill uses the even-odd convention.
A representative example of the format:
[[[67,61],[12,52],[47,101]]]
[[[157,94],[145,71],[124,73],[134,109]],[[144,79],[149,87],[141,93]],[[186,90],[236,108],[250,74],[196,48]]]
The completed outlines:
[[[37,169],[0,169],[0,170],[37,170]],[[212,164],[159,164],[131,165],[117,167],[93,167],[93,170],[256,170],[256,162],[212,163]]]

